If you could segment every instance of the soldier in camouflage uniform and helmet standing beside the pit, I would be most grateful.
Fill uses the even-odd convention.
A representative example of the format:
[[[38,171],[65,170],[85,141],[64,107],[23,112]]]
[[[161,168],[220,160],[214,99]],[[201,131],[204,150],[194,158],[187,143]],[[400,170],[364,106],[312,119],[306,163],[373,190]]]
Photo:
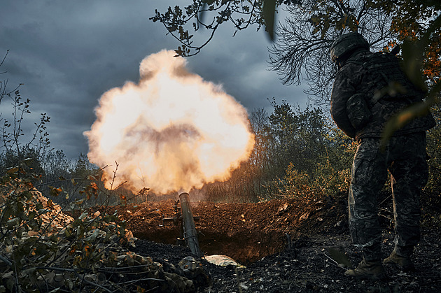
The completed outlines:
[[[378,280],[383,264],[414,269],[411,255],[420,237],[419,195],[428,179],[426,130],[435,126],[428,113],[394,132],[380,149],[381,132],[395,113],[421,102],[425,92],[406,78],[399,59],[387,52],[370,52],[361,34],[339,36],[330,48],[338,66],[330,113],[339,129],[358,143],[349,186],[349,229],[363,261],[346,276]],[[391,86],[392,85],[392,86]],[[387,90],[393,89],[393,90]],[[381,229],[377,194],[391,173],[395,247],[381,263]]]

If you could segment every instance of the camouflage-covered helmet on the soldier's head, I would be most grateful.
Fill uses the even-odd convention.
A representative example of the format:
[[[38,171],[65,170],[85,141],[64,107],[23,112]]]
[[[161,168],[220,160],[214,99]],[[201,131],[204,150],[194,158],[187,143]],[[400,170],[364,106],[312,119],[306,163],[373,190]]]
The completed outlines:
[[[358,32],[351,32],[339,36],[330,48],[330,57],[332,62],[336,62],[340,57],[349,54],[358,48],[369,50],[369,43]]]

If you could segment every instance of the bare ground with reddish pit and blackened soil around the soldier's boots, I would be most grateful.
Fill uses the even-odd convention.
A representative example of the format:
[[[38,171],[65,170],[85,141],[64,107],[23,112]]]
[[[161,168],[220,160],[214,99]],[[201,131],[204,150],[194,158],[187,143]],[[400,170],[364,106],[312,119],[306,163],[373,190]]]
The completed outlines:
[[[439,195],[438,195],[439,196]],[[118,208],[126,220],[139,255],[178,266],[192,255],[176,244],[180,229],[163,217],[174,215],[174,200],[145,202]],[[439,208],[439,207],[438,207]],[[242,264],[216,266],[204,257],[210,283],[198,292],[440,292],[441,233],[439,213],[423,210],[421,243],[416,247],[416,271],[403,273],[386,267],[388,278],[362,281],[344,276],[330,248],[344,253],[354,265],[361,260],[349,239],[346,200],[274,199],[265,203],[192,203],[200,248],[204,255],[228,255]],[[429,209],[430,215],[427,216]],[[384,256],[393,248],[391,210],[381,210]],[[288,241],[288,236],[291,242]],[[335,257],[334,257],[335,258]]]

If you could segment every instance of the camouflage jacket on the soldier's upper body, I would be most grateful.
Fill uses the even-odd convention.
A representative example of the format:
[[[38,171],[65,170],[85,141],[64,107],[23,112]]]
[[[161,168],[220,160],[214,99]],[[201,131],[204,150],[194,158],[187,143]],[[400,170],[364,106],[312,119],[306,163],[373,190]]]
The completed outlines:
[[[351,138],[381,137],[386,122],[396,113],[412,103],[422,101],[425,94],[410,83],[400,70],[399,59],[388,53],[372,53],[367,50],[355,52],[349,57],[335,76],[332,87],[332,119],[339,129]],[[393,97],[379,95],[389,83],[400,83],[403,91]],[[372,115],[367,124],[355,128],[349,120],[346,103],[355,94],[362,94]],[[350,114],[350,113],[349,113]],[[395,131],[393,136],[426,131],[435,126],[429,113],[407,123]]]

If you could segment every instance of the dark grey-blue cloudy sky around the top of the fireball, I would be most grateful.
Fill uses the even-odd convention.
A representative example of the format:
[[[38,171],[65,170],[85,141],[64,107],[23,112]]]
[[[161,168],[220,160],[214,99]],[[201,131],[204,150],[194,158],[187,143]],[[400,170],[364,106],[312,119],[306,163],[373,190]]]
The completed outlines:
[[[52,147],[76,158],[87,153],[83,131],[94,122],[99,97],[127,80],[138,82],[144,57],[176,49],[178,43],[166,36],[162,24],[148,20],[155,9],[174,5],[169,0],[2,0],[0,55],[10,52],[0,78],[8,80],[10,89],[24,83],[20,93],[31,99],[27,122],[38,122],[40,113],[47,113]],[[251,27],[235,37],[233,32],[219,31],[199,55],[189,57],[190,71],[222,84],[248,112],[270,112],[267,99],[272,97],[307,103],[302,87],[282,85],[268,71],[270,43],[263,29]],[[10,100],[3,99],[2,117],[11,109]]]

